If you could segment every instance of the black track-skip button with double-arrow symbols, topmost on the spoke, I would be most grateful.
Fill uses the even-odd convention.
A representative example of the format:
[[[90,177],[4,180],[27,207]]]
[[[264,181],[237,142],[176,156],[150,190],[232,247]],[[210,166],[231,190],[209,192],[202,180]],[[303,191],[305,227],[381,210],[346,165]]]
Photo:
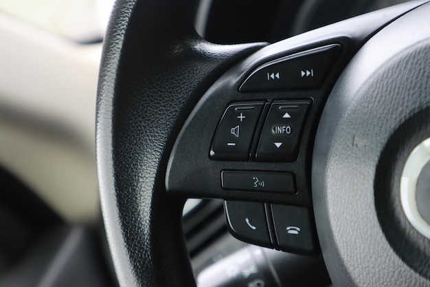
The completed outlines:
[[[341,45],[285,56],[261,65],[240,86],[240,92],[276,89],[313,89],[323,83],[341,52]]]

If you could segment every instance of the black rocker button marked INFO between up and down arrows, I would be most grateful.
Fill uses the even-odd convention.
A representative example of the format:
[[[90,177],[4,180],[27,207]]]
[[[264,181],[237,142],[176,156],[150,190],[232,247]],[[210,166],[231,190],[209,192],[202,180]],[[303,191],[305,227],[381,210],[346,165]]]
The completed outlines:
[[[297,158],[299,139],[310,101],[275,101],[264,123],[256,152],[258,161],[286,161]]]

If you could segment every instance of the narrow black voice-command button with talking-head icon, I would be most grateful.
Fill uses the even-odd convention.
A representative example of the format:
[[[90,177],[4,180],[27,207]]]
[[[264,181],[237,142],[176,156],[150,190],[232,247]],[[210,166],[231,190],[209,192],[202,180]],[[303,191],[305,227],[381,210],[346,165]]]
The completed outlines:
[[[293,173],[221,171],[223,189],[296,193]]]

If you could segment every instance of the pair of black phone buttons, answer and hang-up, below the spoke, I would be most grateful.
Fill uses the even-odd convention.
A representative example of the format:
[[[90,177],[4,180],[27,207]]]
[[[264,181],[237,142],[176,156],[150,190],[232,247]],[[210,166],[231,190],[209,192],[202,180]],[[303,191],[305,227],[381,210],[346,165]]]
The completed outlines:
[[[317,252],[315,226],[306,206],[225,201],[227,226],[239,240],[300,254]]]

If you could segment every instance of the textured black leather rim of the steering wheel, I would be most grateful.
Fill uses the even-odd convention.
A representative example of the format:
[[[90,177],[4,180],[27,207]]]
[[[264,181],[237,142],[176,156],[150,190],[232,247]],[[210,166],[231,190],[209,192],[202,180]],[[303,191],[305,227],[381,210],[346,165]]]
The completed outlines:
[[[118,1],[104,42],[97,104],[100,196],[122,286],[194,286],[184,199],[165,191],[168,156],[203,92],[263,44],[199,38],[190,1]]]

